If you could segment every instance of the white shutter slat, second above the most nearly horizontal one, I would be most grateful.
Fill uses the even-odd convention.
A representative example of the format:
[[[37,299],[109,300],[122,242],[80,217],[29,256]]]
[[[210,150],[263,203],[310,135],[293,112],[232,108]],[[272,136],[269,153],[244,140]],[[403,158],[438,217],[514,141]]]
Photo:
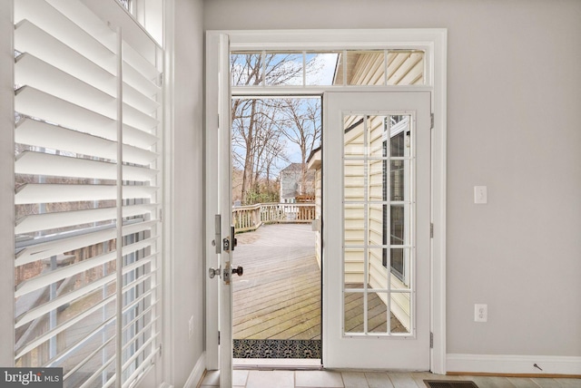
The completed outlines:
[[[117,143],[84,132],[67,130],[43,121],[25,118],[18,122],[15,142],[34,145],[52,150],[66,150],[102,159],[117,157]],[[123,161],[135,164],[149,164],[158,154],[123,144]]]

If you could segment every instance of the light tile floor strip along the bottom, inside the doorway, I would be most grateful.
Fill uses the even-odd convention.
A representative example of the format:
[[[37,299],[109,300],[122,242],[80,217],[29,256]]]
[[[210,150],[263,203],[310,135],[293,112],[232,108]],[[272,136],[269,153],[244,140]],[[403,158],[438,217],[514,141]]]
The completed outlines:
[[[286,370],[235,370],[233,373],[235,388],[426,388],[424,380],[472,380],[478,388],[581,388],[581,379]],[[219,372],[208,372],[198,386],[209,388],[219,385]]]

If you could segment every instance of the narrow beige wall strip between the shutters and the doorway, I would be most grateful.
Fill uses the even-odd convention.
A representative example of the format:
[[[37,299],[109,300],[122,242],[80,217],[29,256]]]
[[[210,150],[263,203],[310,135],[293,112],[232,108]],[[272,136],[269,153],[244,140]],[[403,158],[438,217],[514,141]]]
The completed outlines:
[[[184,386],[204,351],[202,0],[175,0],[173,62],[172,368]],[[168,241],[170,240],[168,239]],[[193,335],[188,321],[193,316]],[[197,383],[197,382],[194,382]]]

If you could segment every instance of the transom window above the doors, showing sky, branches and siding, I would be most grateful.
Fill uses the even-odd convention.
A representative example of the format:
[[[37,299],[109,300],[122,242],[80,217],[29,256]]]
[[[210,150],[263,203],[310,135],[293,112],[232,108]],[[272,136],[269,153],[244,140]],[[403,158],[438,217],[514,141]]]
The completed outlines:
[[[424,56],[420,50],[238,51],[231,53],[231,85],[425,85]]]

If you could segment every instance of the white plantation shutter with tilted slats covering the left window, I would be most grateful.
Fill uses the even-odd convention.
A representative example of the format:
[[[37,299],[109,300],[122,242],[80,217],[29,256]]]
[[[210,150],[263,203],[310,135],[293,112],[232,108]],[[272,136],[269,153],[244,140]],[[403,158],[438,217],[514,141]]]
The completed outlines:
[[[15,364],[65,387],[129,386],[160,348],[162,49],[118,8],[15,0]]]

